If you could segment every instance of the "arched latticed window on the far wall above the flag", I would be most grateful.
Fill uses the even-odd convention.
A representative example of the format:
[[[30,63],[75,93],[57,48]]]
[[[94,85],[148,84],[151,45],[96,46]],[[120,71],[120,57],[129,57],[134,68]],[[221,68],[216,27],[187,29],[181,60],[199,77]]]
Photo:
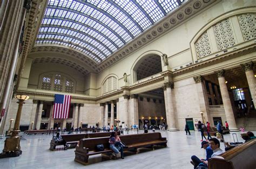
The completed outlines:
[[[42,90],[51,90],[57,92],[74,93],[75,80],[68,75],[58,72],[44,73],[41,75],[39,88]]]

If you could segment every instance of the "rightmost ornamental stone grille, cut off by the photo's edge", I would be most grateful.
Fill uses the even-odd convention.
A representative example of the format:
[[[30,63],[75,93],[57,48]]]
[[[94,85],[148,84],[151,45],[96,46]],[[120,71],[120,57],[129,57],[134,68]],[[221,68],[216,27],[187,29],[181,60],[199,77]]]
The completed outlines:
[[[242,36],[245,40],[256,37],[256,15],[255,13],[246,13],[238,16]]]

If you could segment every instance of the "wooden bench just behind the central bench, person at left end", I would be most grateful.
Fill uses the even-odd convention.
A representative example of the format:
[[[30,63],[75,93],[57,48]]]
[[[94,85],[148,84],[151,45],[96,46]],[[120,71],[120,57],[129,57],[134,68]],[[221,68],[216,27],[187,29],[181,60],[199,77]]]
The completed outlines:
[[[98,138],[98,137],[109,137],[111,132],[102,132],[102,133],[84,133],[84,134],[62,134],[60,135],[63,140],[66,141],[66,144],[71,145],[70,148],[75,148],[78,141],[80,139],[84,138]],[[120,132],[118,132],[118,135],[120,135]],[[56,146],[59,146],[62,144],[55,143],[55,140],[52,140],[50,142],[50,150],[55,151]]]

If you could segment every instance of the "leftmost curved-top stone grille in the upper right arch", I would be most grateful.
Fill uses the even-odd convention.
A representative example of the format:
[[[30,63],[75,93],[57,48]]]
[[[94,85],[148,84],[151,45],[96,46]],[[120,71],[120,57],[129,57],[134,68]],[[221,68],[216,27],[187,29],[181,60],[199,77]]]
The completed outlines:
[[[210,55],[212,53],[207,32],[204,32],[203,35],[198,38],[197,42],[194,45],[196,46],[198,58]]]

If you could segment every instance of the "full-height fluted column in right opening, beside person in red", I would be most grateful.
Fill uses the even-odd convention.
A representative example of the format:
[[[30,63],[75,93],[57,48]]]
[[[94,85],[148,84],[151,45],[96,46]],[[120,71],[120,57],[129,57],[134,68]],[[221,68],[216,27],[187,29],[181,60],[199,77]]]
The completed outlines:
[[[217,71],[217,76],[220,85],[220,93],[223,100],[223,106],[226,114],[227,123],[229,125],[230,131],[238,131],[237,123],[235,123],[234,113],[230,101],[230,96],[227,91],[227,85],[225,80],[225,70]]]

